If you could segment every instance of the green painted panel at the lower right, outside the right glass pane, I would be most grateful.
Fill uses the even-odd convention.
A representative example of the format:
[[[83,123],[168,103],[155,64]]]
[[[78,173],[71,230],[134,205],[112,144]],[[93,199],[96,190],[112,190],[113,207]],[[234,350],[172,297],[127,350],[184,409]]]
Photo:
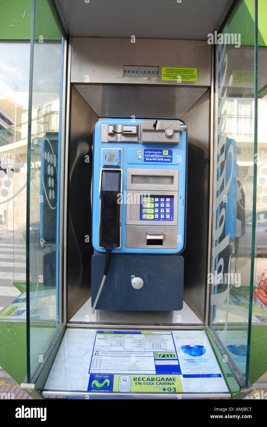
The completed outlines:
[[[253,384],[267,372],[267,329],[265,325],[252,325],[250,341],[249,380]]]

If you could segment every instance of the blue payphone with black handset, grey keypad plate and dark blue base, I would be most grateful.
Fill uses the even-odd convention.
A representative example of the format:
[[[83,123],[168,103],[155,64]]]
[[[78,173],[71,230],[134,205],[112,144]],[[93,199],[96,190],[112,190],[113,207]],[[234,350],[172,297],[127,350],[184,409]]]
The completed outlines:
[[[154,270],[151,259],[146,257],[148,254],[153,254],[153,261],[161,266],[164,274],[168,269],[173,276],[171,282],[179,282],[175,292],[179,289],[177,300],[181,300],[178,305],[182,307],[183,258],[174,257],[168,264],[170,257],[166,255],[179,254],[185,246],[186,133],[186,124],[177,119],[111,118],[96,123],[92,198],[92,243],[96,251],[92,257],[93,311],[95,308],[174,309],[167,308],[168,302],[163,305],[160,301],[149,304],[148,295],[145,298],[148,304],[143,304],[144,301],[141,303],[144,299],[141,295],[147,292],[151,280],[154,283],[153,292],[157,293],[158,288],[162,290],[164,287],[166,279],[166,276],[158,276],[157,280],[152,278]],[[100,297],[111,251],[114,254],[111,266],[116,278],[108,276],[109,283],[103,291],[105,296]],[[105,261],[103,252],[106,252]],[[131,281],[127,267],[129,261],[133,272]],[[104,278],[101,282],[102,263]],[[140,276],[135,274],[136,268]],[[176,278],[177,272],[180,273],[179,279]],[[145,281],[141,277],[144,275]],[[172,284],[175,288],[175,283]],[[128,290],[136,291],[132,305],[129,301],[114,304],[114,298],[116,301],[117,298],[121,299],[119,288],[125,288],[126,294]],[[114,290],[117,295],[111,298]],[[170,298],[171,293],[169,290]],[[105,297],[109,302],[104,303]],[[131,299],[131,295],[128,297]]]

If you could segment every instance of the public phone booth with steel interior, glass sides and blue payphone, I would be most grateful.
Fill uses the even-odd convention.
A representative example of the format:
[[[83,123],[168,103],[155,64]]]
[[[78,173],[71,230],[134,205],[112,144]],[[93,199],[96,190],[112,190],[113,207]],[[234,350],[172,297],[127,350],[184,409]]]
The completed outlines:
[[[0,366],[33,398],[241,399],[265,373],[265,8],[32,1]]]

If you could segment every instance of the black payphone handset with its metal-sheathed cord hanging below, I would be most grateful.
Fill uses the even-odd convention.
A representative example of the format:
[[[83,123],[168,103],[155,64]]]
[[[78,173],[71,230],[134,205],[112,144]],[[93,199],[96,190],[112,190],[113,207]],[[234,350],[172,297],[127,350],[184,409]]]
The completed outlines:
[[[94,313],[110,265],[112,248],[120,246],[120,204],[118,194],[121,191],[121,171],[103,170],[101,177],[101,208],[99,227],[99,246],[106,249],[103,279],[92,307]]]

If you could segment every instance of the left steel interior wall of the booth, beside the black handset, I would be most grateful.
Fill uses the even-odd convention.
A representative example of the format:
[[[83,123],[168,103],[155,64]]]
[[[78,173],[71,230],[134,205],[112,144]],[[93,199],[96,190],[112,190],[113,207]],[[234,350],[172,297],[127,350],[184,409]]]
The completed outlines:
[[[90,298],[93,126],[95,112],[73,88],[70,106],[67,223],[67,320]]]

